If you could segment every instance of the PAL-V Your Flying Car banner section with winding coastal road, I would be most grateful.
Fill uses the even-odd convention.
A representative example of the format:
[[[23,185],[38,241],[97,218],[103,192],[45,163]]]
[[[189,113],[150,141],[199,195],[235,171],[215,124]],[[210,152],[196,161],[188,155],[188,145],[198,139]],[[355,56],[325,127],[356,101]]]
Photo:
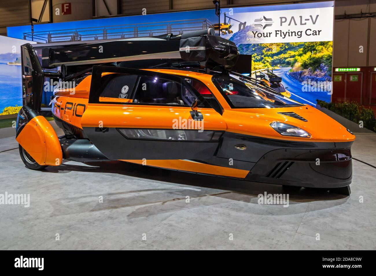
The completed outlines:
[[[331,101],[334,2],[223,9],[221,36],[252,55],[252,77],[316,106]],[[227,29],[228,28],[228,29]]]

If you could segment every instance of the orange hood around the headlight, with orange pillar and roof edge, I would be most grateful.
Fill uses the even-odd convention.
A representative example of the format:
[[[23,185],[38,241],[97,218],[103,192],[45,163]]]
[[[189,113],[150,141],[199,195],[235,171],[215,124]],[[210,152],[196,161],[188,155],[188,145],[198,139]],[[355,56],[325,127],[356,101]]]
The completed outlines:
[[[223,96],[214,86],[212,76],[199,72],[190,72],[171,69],[148,69],[165,74],[187,76],[196,78],[208,86],[215,98],[220,102],[224,109],[223,119],[227,124],[227,131],[241,133],[252,136],[259,136],[271,139],[290,140],[290,141],[312,141],[312,142],[350,142],[355,140],[355,136],[349,133],[343,125],[330,118],[320,110],[312,106],[280,107],[280,108],[238,108],[232,109]],[[307,119],[303,122],[299,119],[277,114],[277,112],[295,112]],[[270,124],[273,122],[285,122],[308,131],[312,137],[287,137],[277,133]]]

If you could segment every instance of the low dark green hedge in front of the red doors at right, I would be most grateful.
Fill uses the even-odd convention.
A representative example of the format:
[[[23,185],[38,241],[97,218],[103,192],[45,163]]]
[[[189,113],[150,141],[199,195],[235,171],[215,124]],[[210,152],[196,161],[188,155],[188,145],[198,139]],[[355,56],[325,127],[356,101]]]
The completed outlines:
[[[376,118],[370,107],[365,108],[354,102],[327,103],[321,100],[317,100],[317,104],[356,124],[359,124],[359,121],[363,121],[363,127],[376,132]]]

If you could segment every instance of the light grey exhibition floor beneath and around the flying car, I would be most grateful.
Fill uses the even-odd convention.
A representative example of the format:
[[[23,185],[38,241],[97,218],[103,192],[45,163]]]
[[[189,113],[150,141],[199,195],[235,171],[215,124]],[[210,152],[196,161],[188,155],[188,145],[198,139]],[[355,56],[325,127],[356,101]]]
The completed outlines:
[[[17,147],[0,129],[0,193],[30,194],[1,206],[2,250],[376,249],[376,134],[356,134],[353,158],[374,167],[353,160],[350,196],[301,189],[287,208],[258,204],[281,186],[122,162],[33,171]]]

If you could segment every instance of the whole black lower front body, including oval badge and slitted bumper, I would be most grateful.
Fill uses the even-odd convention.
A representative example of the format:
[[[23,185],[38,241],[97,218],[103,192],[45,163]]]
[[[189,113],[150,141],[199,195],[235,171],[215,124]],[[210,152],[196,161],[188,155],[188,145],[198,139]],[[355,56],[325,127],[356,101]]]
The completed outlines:
[[[233,158],[234,165],[237,162],[243,165],[243,162],[253,164],[245,180],[301,187],[337,188],[351,183],[352,143],[295,142],[225,132],[216,157],[224,160]],[[245,149],[235,147],[239,145]],[[216,161],[217,158],[213,158],[212,162],[203,161],[223,166]]]

